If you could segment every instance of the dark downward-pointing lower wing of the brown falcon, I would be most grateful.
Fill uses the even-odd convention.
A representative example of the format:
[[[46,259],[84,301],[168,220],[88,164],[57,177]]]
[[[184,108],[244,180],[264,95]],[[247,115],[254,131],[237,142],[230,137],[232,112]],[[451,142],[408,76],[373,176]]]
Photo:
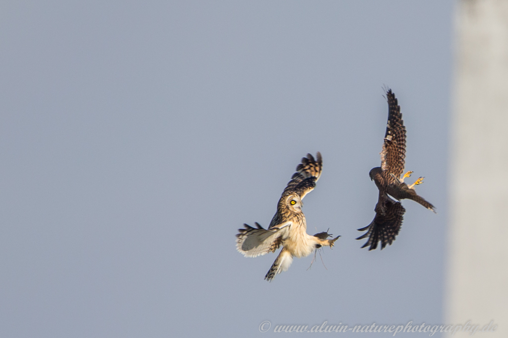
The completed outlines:
[[[367,230],[367,232],[357,239],[369,238],[362,248],[370,246],[369,250],[374,250],[377,248],[377,242],[379,241],[381,242],[381,250],[387,244],[391,245],[395,240],[395,236],[399,234],[405,211],[400,202],[396,202],[384,194],[379,194],[374,219],[367,227],[358,229],[358,231]]]

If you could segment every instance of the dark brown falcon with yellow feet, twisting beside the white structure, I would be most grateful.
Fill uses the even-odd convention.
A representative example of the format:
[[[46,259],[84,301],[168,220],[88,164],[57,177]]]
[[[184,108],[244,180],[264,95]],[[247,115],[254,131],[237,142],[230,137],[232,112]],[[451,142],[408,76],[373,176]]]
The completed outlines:
[[[402,121],[400,106],[397,103],[395,94],[391,89],[387,91],[388,100],[388,124],[383,143],[381,155],[381,166],[372,168],[369,172],[371,180],[376,183],[379,189],[379,198],[374,208],[375,216],[372,222],[365,228],[358,231],[367,231],[357,239],[368,237],[368,241],[362,246],[369,246],[369,250],[377,248],[377,242],[381,242],[381,249],[392,244],[395,236],[398,235],[402,225],[402,218],[405,212],[404,207],[399,202],[402,199],[416,201],[435,212],[434,206],[424,200],[415,192],[415,185],[423,182],[423,177],[416,180],[415,183],[407,185],[404,178],[411,176],[412,171],[404,171],[404,158],[406,154],[406,128]],[[397,201],[393,200],[391,197]]]

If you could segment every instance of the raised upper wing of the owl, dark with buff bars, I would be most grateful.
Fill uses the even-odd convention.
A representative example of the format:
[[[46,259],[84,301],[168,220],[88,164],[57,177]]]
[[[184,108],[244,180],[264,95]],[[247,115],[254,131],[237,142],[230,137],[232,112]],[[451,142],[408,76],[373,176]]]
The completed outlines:
[[[285,187],[284,194],[297,194],[303,199],[310,191],[314,189],[317,180],[323,170],[323,159],[321,153],[317,152],[316,158],[310,154],[302,158],[302,163],[296,167],[296,172],[291,177],[291,181]]]

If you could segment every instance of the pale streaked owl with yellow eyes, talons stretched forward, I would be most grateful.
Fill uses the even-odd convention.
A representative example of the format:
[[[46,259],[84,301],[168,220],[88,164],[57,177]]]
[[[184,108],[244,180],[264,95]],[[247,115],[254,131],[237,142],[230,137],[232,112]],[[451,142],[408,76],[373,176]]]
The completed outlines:
[[[321,246],[332,247],[334,239],[327,239],[328,232],[314,236],[307,234],[307,223],[302,212],[302,200],[314,189],[320,178],[323,160],[318,152],[316,159],[310,154],[302,158],[296,167],[288,185],[282,192],[277,204],[277,212],[272,218],[268,229],[263,229],[256,223],[256,228],[243,224],[244,229],[238,229],[236,248],[246,257],[257,257],[268,252],[275,252],[280,246],[282,250],[273,262],[265,276],[271,281],[275,275],[287,271],[293,262],[293,257],[308,256],[314,248]]]

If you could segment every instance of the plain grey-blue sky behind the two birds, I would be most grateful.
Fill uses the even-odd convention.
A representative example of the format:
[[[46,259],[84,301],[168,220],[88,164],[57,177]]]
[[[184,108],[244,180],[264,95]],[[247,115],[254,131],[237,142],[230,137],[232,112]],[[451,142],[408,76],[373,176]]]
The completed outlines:
[[[444,324],[453,9],[0,4],[0,336]],[[374,217],[385,85],[407,129],[409,180],[425,176],[417,192],[437,214],[403,201],[396,241],[368,251],[355,238]],[[276,254],[245,258],[235,234],[268,226],[317,151],[307,232],[342,237],[311,269],[313,256],[295,259],[268,283]]]

